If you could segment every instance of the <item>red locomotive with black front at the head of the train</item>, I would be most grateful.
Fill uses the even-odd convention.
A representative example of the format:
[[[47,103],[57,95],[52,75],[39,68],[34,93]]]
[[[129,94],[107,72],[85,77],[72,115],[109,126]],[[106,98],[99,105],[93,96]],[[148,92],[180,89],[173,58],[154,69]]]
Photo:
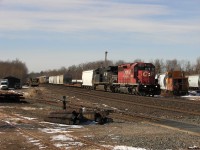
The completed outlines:
[[[160,86],[155,82],[155,66],[143,62],[119,65],[117,82],[111,85],[111,91],[144,96],[159,95]]]

